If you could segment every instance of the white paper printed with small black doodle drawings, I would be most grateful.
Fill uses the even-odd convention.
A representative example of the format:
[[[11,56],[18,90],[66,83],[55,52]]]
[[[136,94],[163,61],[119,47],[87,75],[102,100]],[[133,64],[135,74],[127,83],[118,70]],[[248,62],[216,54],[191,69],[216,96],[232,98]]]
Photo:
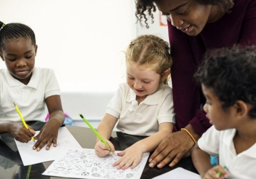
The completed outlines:
[[[118,152],[115,151],[115,153]],[[71,178],[140,178],[149,155],[150,153],[144,153],[141,162],[134,169],[117,170],[112,164],[120,156],[109,154],[104,158],[99,158],[94,149],[70,149],[42,174]]]

